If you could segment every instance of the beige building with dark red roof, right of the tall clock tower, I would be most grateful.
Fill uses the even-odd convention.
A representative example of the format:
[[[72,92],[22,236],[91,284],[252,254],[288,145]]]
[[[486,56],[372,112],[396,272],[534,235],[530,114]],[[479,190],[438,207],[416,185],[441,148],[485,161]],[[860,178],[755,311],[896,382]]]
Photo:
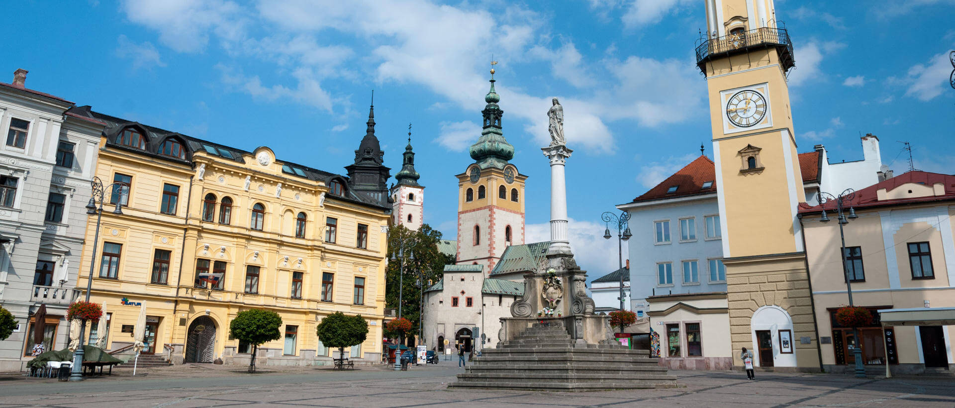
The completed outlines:
[[[893,373],[947,369],[955,363],[950,326],[881,327],[879,310],[944,308],[955,297],[955,244],[950,221],[955,214],[955,176],[911,171],[860,189],[846,202],[857,219],[842,225],[846,269],[856,306],[876,319],[859,328],[863,363]],[[831,223],[820,223],[825,209]],[[841,327],[833,313],[848,305],[845,272],[839,262],[836,203],[800,209],[812,279],[822,363],[842,372],[855,364],[852,328]]]

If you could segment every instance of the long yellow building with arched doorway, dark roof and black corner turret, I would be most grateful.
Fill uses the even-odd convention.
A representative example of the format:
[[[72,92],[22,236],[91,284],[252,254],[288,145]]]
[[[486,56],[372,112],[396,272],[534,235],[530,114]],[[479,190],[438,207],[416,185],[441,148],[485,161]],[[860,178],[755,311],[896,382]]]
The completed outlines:
[[[96,260],[92,301],[107,306],[107,349],[133,344],[142,303],[144,353],[247,364],[250,347],[230,338],[228,325],[239,311],[264,308],[282,316],[282,339],[259,348],[258,364],[326,364],[331,352],[315,327],[343,311],[370,325],[350,358],[380,361],[391,209],[372,115],[349,177],[278,161],[267,147],[244,151],[89,116],[108,123],[96,175],[129,185],[107,189],[122,215],[104,209],[96,254],[90,218],[80,268],[85,287]]]

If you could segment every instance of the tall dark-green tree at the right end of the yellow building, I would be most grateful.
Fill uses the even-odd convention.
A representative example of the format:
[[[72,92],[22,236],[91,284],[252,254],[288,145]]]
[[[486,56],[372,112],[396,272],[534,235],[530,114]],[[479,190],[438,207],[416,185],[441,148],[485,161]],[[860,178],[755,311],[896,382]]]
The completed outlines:
[[[410,254],[406,252],[404,260],[397,258],[388,263],[385,305],[388,308],[398,308],[398,289],[402,283],[400,266],[404,263],[401,317],[413,323],[412,329],[407,334],[416,335],[418,334],[418,320],[421,316],[419,312],[421,291],[428,289],[429,282],[431,284],[437,283],[441,279],[444,266],[454,264],[455,259],[437,250],[437,244],[441,241],[441,232],[432,229],[431,225],[427,224],[421,225],[416,231],[408,229],[404,225],[393,226],[389,231],[388,259],[392,259],[392,254],[397,256],[398,240],[407,240],[410,237],[414,238],[414,244],[411,246],[414,260],[410,259]],[[421,284],[421,290],[418,290],[418,283]]]

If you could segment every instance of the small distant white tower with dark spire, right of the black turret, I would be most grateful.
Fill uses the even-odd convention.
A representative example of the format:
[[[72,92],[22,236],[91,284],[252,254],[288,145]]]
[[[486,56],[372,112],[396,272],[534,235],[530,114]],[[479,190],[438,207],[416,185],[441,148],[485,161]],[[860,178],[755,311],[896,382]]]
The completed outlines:
[[[392,186],[393,224],[415,230],[424,224],[424,185],[418,184],[421,175],[414,170],[411,124],[408,125],[408,145],[405,146],[401,171],[394,175]]]

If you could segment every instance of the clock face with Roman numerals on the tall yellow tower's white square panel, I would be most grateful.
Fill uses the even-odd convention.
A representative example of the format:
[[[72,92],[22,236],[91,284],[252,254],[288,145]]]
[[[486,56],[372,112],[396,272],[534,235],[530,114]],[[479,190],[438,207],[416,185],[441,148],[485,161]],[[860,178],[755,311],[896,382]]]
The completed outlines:
[[[769,85],[759,84],[720,92],[723,133],[732,134],[773,126]]]

